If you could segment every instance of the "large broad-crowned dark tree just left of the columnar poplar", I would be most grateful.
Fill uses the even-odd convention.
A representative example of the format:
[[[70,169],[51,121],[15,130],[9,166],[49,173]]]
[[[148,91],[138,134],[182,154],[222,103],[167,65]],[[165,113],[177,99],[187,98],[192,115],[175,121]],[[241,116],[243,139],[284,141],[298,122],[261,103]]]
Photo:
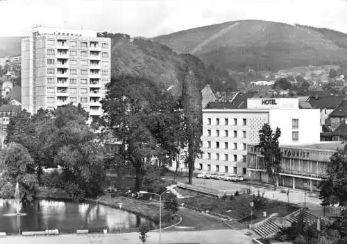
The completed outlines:
[[[151,157],[158,157],[161,165],[176,157],[180,103],[151,80],[131,76],[112,79],[101,103],[102,125],[121,142],[119,155],[133,166],[139,191]]]

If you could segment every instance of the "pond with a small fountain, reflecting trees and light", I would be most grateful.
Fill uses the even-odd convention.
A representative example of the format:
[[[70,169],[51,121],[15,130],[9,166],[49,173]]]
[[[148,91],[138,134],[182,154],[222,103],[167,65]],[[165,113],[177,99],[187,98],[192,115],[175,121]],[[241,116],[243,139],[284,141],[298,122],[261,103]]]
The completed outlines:
[[[102,204],[66,202],[62,200],[35,200],[24,207],[20,216],[21,232],[58,229],[59,232],[76,232],[76,229],[89,229],[90,232],[125,232],[149,223],[151,220],[128,211],[113,209]],[[0,232],[19,232],[15,200],[0,198]]]

